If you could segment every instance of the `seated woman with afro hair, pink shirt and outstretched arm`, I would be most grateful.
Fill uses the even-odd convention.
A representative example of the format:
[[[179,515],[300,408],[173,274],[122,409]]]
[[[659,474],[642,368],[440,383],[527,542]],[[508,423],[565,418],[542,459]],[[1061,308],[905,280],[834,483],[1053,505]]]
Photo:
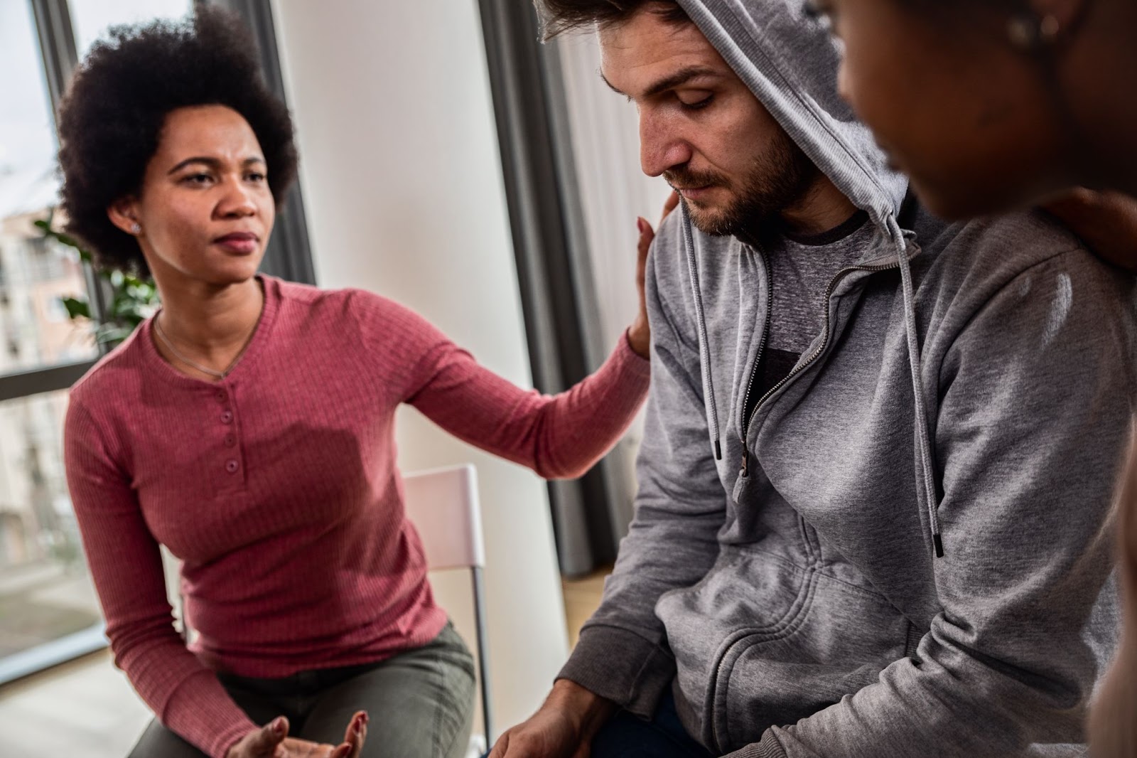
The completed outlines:
[[[59,114],[67,231],[149,272],[163,303],[75,385],[65,432],[115,661],[157,715],[132,756],[462,756],[473,661],[404,514],[395,412],[583,473],[646,395],[652,229],[640,315],[556,396],[383,297],[259,275],[297,153],[254,49],[216,10],[119,27]],[[189,645],[159,545],[182,561]]]

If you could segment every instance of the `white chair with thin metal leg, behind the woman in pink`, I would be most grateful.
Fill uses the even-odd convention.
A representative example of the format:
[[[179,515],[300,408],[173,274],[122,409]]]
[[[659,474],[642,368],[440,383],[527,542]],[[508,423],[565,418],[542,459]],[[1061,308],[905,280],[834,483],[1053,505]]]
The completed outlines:
[[[485,588],[482,579],[482,569],[485,567],[485,546],[482,543],[478,472],[470,463],[420,471],[404,476],[402,486],[407,518],[415,525],[422,539],[428,568],[432,571],[470,569],[474,595],[478,676],[481,681],[482,692],[484,745],[492,745],[489,659],[485,644]],[[478,735],[471,740],[470,755],[480,756],[489,748],[481,745],[480,741],[475,747],[475,740],[478,740]]]

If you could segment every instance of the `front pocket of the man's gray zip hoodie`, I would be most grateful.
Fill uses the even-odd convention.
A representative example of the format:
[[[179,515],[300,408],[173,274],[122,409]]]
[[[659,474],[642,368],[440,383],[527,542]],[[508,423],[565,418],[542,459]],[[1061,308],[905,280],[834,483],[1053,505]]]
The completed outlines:
[[[722,752],[838,702],[905,656],[908,623],[887,600],[811,574],[794,624],[739,636],[722,651],[708,730]]]

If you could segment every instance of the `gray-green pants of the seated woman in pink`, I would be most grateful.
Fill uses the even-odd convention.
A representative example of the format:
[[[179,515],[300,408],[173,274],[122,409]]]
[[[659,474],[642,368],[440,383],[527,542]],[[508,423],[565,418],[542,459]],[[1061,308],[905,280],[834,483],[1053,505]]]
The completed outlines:
[[[367,711],[363,758],[462,758],[474,717],[474,659],[449,624],[433,641],[379,664],[300,672],[281,679],[219,675],[257,724],[287,716],[289,734],[339,744]],[[202,758],[157,719],[130,758]]]

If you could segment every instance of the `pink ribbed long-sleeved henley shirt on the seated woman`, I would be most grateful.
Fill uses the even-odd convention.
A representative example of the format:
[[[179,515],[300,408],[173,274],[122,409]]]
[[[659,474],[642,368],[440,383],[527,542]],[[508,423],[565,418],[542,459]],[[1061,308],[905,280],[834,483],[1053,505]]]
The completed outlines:
[[[67,479],[116,664],[175,733],[222,758],[252,722],[215,670],[281,677],[382,660],[441,631],[402,509],[395,412],[543,477],[621,436],[648,362],[621,339],[549,397],[480,366],[412,311],[265,277],[260,323],[211,384],[158,354],[151,322],[70,393]],[[191,649],[158,545],[182,560]]]

